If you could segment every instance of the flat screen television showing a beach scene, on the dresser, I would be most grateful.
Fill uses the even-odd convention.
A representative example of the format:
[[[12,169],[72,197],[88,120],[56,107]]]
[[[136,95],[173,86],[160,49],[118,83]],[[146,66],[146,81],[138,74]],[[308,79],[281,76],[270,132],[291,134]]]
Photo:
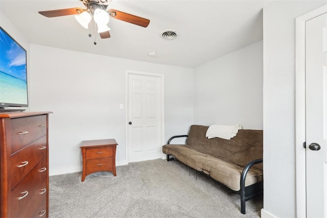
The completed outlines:
[[[0,27],[0,112],[24,111],[28,107],[27,54],[15,39]]]

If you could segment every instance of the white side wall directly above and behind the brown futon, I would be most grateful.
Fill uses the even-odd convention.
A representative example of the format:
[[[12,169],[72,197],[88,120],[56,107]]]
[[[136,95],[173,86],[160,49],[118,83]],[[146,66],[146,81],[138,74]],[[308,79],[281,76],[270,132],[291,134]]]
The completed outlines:
[[[263,129],[263,42],[194,70],[194,123]]]

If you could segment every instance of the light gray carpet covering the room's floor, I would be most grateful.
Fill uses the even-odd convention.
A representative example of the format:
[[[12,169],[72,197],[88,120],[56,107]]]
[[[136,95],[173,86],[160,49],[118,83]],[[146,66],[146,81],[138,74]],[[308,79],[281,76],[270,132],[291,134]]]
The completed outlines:
[[[260,217],[263,197],[240,196],[173,160],[156,159],[99,172],[50,177],[50,217]]]

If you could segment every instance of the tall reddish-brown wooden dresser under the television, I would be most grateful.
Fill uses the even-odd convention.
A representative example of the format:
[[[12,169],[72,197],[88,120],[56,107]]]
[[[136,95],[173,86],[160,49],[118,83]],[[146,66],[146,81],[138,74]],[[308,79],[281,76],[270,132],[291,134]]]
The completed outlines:
[[[0,217],[49,217],[49,113],[0,113]]]

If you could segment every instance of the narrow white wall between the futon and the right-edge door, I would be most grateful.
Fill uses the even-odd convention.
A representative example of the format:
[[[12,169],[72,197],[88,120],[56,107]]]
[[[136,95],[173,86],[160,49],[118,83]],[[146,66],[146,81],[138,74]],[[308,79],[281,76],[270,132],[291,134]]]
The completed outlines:
[[[263,217],[269,214],[296,217],[295,18],[326,3],[326,0],[274,1],[263,11]]]

